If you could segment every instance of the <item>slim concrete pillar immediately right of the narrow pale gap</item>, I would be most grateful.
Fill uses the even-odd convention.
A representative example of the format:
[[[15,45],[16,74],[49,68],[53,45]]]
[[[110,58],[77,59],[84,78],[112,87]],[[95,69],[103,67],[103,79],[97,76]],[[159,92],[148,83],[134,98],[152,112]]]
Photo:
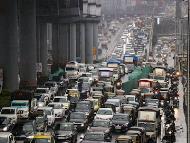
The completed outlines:
[[[52,58],[53,65],[57,66],[59,63],[59,49],[58,49],[58,39],[59,39],[59,30],[58,24],[52,24]]]

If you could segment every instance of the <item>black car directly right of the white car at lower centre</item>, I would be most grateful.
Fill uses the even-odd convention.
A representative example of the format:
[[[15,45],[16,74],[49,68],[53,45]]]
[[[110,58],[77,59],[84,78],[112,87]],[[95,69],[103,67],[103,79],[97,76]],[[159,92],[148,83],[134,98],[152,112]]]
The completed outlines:
[[[132,126],[132,120],[128,114],[116,113],[113,115],[112,128],[113,131],[126,132]]]

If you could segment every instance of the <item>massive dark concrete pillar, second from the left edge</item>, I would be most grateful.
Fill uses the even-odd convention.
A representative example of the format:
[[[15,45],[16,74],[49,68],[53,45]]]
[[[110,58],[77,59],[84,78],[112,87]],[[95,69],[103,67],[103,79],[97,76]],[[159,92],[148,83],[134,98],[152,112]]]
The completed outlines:
[[[20,0],[20,87],[36,87],[36,1]]]

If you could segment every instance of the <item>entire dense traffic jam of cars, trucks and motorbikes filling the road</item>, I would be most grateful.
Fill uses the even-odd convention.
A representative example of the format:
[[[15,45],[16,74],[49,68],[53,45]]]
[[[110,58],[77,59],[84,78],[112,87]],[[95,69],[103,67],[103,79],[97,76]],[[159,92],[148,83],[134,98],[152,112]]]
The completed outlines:
[[[0,143],[175,142],[181,75],[168,63],[168,39],[158,40],[156,55],[148,53],[145,21],[128,24],[106,61],[70,61],[65,75],[13,92],[0,112]],[[150,73],[131,82],[145,67]]]

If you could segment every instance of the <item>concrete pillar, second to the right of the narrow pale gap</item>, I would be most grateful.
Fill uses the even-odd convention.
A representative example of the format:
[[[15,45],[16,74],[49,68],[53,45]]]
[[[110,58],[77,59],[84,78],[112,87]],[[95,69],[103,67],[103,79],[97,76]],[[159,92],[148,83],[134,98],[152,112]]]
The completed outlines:
[[[64,66],[68,61],[69,25],[59,24],[59,64]]]

